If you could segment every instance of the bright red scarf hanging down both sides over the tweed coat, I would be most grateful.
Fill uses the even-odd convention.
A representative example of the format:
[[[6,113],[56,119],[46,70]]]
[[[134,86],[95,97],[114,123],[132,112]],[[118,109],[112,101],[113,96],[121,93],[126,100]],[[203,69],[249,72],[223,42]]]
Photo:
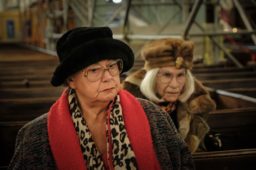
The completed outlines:
[[[120,89],[119,96],[125,129],[139,170],[160,170],[145,111],[140,102],[127,91]],[[50,109],[47,126],[52,154],[58,169],[86,170],[79,139],[70,116],[66,91]]]

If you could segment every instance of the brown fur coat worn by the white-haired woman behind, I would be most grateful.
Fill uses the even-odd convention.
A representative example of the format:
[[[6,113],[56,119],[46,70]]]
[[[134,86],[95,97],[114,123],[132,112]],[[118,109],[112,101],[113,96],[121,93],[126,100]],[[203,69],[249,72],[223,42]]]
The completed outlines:
[[[140,91],[146,71],[141,69],[122,82],[122,89],[138,98],[147,99]],[[177,101],[178,132],[188,144],[191,153],[206,152],[204,136],[209,132],[207,117],[209,112],[215,110],[215,102],[210,98],[207,89],[198,80],[195,80],[195,91],[190,98],[182,103]]]

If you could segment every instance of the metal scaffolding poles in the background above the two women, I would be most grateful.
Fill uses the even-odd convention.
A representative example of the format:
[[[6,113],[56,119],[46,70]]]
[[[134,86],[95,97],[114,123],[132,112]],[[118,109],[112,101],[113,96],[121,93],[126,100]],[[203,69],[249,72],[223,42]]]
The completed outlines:
[[[253,5],[256,3],[251,0]],[[40,4],[44,2],[47,6],[46,8],[46,16],[49,20],[49,25],[45,29],[45,39],[46,39],[46,49],[47,50],[54,50],[55,40],[61,37],[68,30],[68,15],[70,11],[76,15],[76,17],[81,21],[82,26],[108,26],[115,20],[117,16],[119,16],[122,11],[125,11],[125,16],[123,17],[124,23],[122,26],[122,34],[114,34],[113,37],[120,40],[125,40],[126,42],[130,42],[132,40],[147,40],[144,45],[137,51],[135,54],[135,58],[140,56],[140,51],[142,48],[149,44],[153,40],[157,40],[159,38],[165,37],[182,37],[183,39],[189,39],[189,37],[196,37],[196,36],[208,36],[212,42],[215,44],[215,58],[214,61],[218,62],[218,51],[223,50],[224,54],[238,67],[243,67],[241,63],[232,55],[230,54],[223,45],[219,43],[218,36],[221,35],[234,35],[234,34],[249,34],[253,42],[256,44],[256,30],[253,29],[250,23],[250,19],[246,16],[243,7],[239,3],[238,0],[233,0],[236,8],[239,11],[239,14],[246,26],[247,30],[239,30],[237,32],[233,31],[218,31],[218,11],[216,10],[216,6],[218,5],[218,0],[214,0],[209,2],[204,0],[195,0],[191,2],[191,0],[172,0],[172,2],[165,2],[165,0],[160,0],[160,2],[136,2],[134,0],[123,0],[122,3],[102,3],[97,2],[96,0],[38,0],[38,9],[40,8]],[[61,7],[56,8],[55,4],[58,2],[61,4]],[[213,3],[212,3],[213,2]],[[215,8],[214,16],[214,30],[213,31],[206,31],[203,26],[201,26],[196,20],[195,17],[198,14],[198,11],[202,4],[211,4]],[[96,7],[108,7],[108,6],[115,6],[117,9],[113,11],[111,17],[107,20],[101,17],[101,14],[98,14],[96,11]],[[152,14],[154,14],[157,23],[159,23],[160,27],[153,35],[145,35],[145,34],[131,34],[130,26],[129,26],[129,14],[131,13],[131,9],[133,12],[140,17],[147,24],[151,24],[151,21],[145,17],[145,15],[140,11],[139,7],[148,6],[151,10]],[[156,10],[156,6],[163,6],[167,8],[168,6],[177,6],[177,11],[169,17],[169,19],[164,23],[160,17],[160,14]],[[192,10],[188,13],[188,7],[192,6]],[[61,10],[60,10],[61,9]],[[180,34],[165,34],[163,35],[163,31],[166,27],[177,17],[177,15],[182,12],[183,14],[183,31],[180,31]],[[166,16],[164,16],[166,18]],[[63,20],[63,27],[60,33],[56,33],[54,31],[54,25],[56,22],[56,18],[61,18]],[[189,32],[192,24],[198,26],[201,32]]]

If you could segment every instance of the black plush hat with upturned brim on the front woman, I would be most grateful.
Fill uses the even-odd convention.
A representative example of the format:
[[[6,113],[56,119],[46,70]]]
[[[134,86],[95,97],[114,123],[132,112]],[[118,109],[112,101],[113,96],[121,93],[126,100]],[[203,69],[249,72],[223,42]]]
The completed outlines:
[[[108,27],[79,27],[65,33],[57,41],[60,65],[53,73],[51,84],[60,86],[71,75],[105,59],[122,59],[122,73],[129,71],[134,64],[134,53],[112,36]]]

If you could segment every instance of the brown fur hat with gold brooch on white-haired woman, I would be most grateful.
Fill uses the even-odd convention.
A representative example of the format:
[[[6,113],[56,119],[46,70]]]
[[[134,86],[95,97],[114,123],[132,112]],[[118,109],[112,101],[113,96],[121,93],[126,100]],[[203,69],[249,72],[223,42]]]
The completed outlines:
[[[194,43],[179,38],[163,38],[146,45],[141,51],[146,71],[152,68],[176,66],[192,69]]]

